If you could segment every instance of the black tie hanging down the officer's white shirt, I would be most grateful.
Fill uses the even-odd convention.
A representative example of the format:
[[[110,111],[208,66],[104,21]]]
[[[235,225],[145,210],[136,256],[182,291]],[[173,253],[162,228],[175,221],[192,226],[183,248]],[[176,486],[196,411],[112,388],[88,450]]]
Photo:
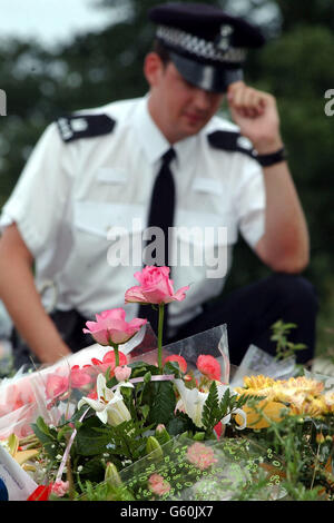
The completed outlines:
[[[175,209],[175,182],[173,172],[169,168],[170,161],[175,158],[175,150],[168,149],[167,152],[161,157],[163,164],[157,175],[151,198],[150,208],[148,214],[147,227],[159,227],[164,231],[165,238],[165,260],[161,260],[159,253],[156,253],[158,260],[153,265],[166,265],[168,266],[168,228],[173,227],[174,224],[174,209]],[[159,259],[161,263],[159,264]],[[169,274],[170,277],[170,274]],[[165,320],[164,330],[167,328],[168,322],[168,307],[165,306]],[[149,305],[140,305],[139,317],[147,318],[151,325],[151,328],[157,334],[158,332],[158,312],[154,310]]]

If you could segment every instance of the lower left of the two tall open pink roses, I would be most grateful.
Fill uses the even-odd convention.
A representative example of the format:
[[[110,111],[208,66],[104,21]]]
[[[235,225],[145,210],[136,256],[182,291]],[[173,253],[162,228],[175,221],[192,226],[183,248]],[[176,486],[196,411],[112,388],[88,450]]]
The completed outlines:
[[[104,310],[96,315],[96,322],[86,322],[88,328],[84,333],[89,333],[100,345],[119,345],[128,342],[147,319],[135,318],[126,322],[126,312],[124,308],[114,308]]]

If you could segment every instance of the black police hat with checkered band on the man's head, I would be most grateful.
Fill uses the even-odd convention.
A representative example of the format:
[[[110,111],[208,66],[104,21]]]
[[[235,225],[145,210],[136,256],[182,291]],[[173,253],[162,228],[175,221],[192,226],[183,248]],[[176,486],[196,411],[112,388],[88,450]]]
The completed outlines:
[[[224,92],[242,80],[247,49],[265,41],[255,26],[205,3],[164,3],[148,16],[179,73],[207,91]]]

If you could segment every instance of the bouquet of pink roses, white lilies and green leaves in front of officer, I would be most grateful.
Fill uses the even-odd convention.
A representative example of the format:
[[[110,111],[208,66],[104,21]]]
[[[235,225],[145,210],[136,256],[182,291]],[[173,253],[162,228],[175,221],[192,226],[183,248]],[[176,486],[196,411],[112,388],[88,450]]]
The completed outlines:
[[[146,456],[158,425],[164,424],[170,437],[186,431],[216,437],[214,430],[222,432],[223,424],[237,413],[243,415],[240,406],[247,398],[237,399],[223,385],[219,362],[206,354],[205,339],[210,352],[215,349],[227,361],[223,367],[226,378],[224,327],[213,329],[218,335],[218,349],[213,347],[213,333],[199,337],[204,351],[197,359],[194,344],[187,341],[185,346],[193,353],[189,368],[180,354],[163,347],[164,307],[184,299],[188,289],[175,293],[168,275],[166,267],[146,267],[135,275],[140,286],[125,295],[126,303],[137,300],[158,308],[155,351],[132,359],[125,355],[120,347],[138,335],[147,320],[126,322],[122,308],[106,310],[96,316],[96,322],[87,322],[85,329],[100,345],[100,357],[91,357],[84,365],[57,364],[23,376],[24,387],[17,386],[20,379],[7,387],[16,402],[8,414],[14,415],[16,423],[7,428],[6,440],[2,435],[4,446],[38,484],[52,484],[56,495],[77,496],[85,491],[82,482],[104,480],[108,463],[121,471]],[[203,422],[209,396],[214,412]],[[30,431],[28,408],[33,408],[36,417]],[[27,453],[31,450],[33,453]]]

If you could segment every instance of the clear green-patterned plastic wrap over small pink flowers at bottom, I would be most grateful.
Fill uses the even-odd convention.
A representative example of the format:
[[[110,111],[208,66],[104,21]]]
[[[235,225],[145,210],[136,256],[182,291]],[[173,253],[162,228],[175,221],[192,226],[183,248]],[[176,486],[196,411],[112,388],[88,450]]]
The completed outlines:
[[[282,463],[275,462],[279,471]],[[98,490],[106,500],[227,501],[283,496],[279,475],[268,473],[271,460],[247,442],[194,441],[180,435],[118,474]],[[256,486],[258,485],[258,486]],[[102,494],[104,493],[104,494]]]

